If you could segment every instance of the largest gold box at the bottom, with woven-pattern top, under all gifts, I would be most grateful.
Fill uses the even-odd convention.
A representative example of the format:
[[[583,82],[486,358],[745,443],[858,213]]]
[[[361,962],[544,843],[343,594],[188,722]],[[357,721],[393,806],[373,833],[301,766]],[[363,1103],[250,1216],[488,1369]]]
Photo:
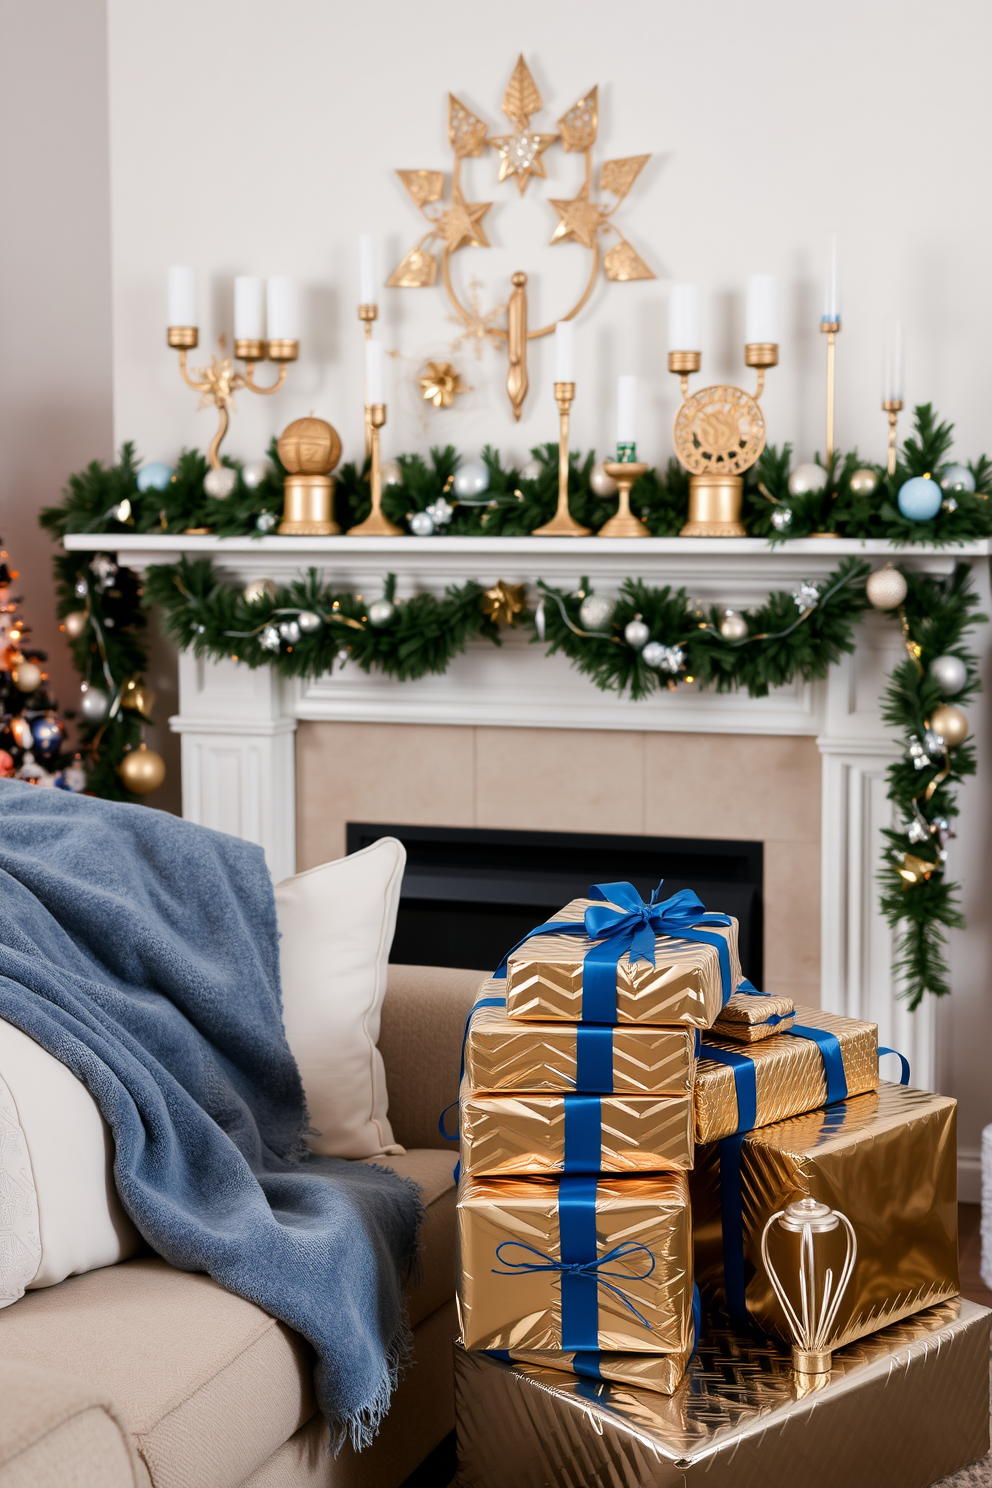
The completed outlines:
[[[455,1348],[458,1484],[927,1488],[989,1448],[991,1317],[928,1308],[812,1381],[788,1350],[708,1321],[669,1399]]]

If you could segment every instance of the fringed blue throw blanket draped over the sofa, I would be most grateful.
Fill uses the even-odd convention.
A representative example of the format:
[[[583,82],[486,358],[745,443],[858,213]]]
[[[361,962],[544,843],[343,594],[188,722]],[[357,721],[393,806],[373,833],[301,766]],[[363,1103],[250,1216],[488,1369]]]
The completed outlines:
[[[308,1338],[335,1440],[364,1446],[408,1348],[419,1199],[303,1147],[262,850],[0,781],[0,1018],[100,1103],[149,1244]]]

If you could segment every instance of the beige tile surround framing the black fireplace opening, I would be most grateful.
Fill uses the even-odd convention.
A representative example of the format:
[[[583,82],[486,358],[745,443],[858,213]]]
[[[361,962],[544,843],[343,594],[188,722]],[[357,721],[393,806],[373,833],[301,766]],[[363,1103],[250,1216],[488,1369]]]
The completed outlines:
[[[814,740],[300,723],[296,766],[300,869],[347,821],[764,842],[764,990],[819,1004]]]

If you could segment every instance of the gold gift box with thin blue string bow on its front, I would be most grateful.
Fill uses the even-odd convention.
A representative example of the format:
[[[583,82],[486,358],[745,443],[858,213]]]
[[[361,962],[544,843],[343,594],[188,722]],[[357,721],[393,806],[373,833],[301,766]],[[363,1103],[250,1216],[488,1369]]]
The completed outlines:
[[[568,1244],[562,1256],[565,1196],[574,1199],[579,1184],[595,1196],[589,1226],[595,1254],[582,1256],[593,1269],[582,1278],[559,1269],[579,1260]],[[466,1348],[674,1354],[692,1347],[684,1173],[599,1180],[463,1177],[458,1247],[458,1321]],[[576,1296],[577,1287],[583,1298]],[[589,1299],[596,1342],[580,1345],[570,1333],[580,1302]],[[562,1303],[570,1312],[564,1330]]]

